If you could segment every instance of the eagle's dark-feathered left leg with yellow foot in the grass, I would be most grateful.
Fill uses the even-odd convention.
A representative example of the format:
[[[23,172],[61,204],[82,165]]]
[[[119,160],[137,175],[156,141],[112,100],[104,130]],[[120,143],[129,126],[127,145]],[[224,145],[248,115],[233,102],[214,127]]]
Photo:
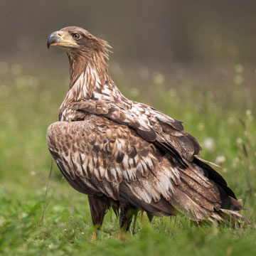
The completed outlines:
[[[92,233],[92,242],[97,240],[97,234],[102,226],[107,210],[110,208],[110,201],[104,196],[88,196],[92,224],[95,230]]]

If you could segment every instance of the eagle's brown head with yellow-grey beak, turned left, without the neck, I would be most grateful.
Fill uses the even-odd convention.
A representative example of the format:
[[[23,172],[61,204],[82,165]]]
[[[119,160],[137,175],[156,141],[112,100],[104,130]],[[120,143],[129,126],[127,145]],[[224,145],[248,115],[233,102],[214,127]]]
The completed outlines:
[[[68,26],[50,34],[47,47],[57,46],[68,55],[84,55],[91,57],[94,53],[107,53],[108,43],[83,28]]]

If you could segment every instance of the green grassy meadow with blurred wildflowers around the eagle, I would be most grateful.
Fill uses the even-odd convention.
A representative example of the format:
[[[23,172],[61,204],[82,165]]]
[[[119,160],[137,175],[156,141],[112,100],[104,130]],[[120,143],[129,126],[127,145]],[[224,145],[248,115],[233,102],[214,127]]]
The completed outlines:
[[[55,164],[48,183],[46,129],[57,118],[66,80],[26,75],[8,63],[1,63],[0,73],[0,255],[256,255],[256,105],[245,93],[240,66],[225,95],[189,78],[168,89],[161,74],[144,82],[146,90],[138,91],[136,82],[122,84],[125,95],[186,121],[186,131],[203,146],[201,157],[222,166],[218,171],[248,209],[243,214],[252,225],[198,227],[181,216],[154,218],[149,225],[139,215],[135,234],[121,242],[110,212],[97,243],[90,242],[86,196],[68,186]]]

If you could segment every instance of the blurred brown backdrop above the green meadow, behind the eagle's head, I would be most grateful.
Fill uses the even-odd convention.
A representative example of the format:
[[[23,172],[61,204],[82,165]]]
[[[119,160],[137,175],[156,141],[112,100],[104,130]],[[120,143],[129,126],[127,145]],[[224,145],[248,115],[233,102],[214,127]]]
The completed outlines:
[[[255,8],[253,0],[1,0],[1,62],[18,63],[31,75],[67,75],[65,55],[49,51],[46,39],[74,25],[110,43],[110,70],[121,85],[131,76],[163,73],[170,87],[189,77],[229,92],[228,76],[241,64],[245,86],[255,94]]]

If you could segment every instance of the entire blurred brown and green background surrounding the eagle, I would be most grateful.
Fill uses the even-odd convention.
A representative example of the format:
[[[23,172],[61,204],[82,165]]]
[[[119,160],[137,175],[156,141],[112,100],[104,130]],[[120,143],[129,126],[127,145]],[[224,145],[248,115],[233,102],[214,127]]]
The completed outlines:
[[[254,255],[256,1],[0,1],[0,255]],[[46,145],[68,90],[68,60],[48,35],[81,26],[113,47],[125,96],[183,120],[222,166],[252,221],[245,230],[139,216],[128,242],[109,212],[97,244],[87,198]],[[47,198],[45,195],[47,191]]]

